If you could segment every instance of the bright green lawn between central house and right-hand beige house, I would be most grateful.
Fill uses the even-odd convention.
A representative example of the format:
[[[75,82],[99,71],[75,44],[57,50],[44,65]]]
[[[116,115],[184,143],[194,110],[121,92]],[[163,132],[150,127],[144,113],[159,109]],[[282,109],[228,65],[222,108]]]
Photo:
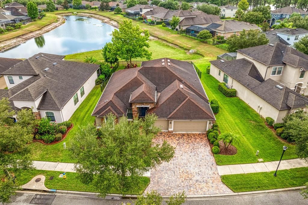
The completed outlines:
[[[217,99],[220,105],[219,113],[215,115],[221,133],[234,132],[239,135],[239,142],[233,143],[237,148],[235,155],[214,155],[218,165],[242,164],[258,162],[262,158],[265,162],[280,159],[282,147],[288,150],[283,159],[296,158],[295,146],[280,141],[273,132],[265,126],[264,119],[240,98],[225,97],[218,90],[218,81],[206,74],[208,64],[197,64],[202,71],[201,82],[209,99]],[[259,150],[259,156],[256,151]]]

